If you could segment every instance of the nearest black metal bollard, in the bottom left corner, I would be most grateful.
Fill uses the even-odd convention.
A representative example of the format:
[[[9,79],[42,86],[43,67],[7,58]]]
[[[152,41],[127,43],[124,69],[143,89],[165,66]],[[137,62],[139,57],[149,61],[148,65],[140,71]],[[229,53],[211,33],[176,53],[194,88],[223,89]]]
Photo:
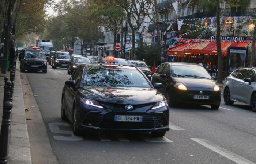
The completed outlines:
[[[7,163],[9,125],[11,124],[11,109],[12,103],[10,101],[5,102],[3,108],[3,120],[0,134],[0,164]]]

